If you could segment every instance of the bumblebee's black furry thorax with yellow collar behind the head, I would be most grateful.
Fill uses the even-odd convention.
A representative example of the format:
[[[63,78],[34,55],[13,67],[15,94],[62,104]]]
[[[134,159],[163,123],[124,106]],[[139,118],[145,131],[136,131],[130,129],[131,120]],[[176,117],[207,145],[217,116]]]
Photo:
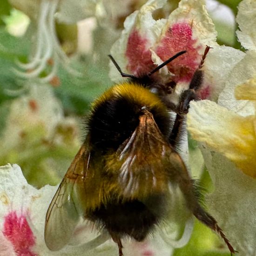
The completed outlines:
[[[168,136],[169,114],[161,99],[139,84],[123,83],[92,104],[87,126],[91,144],[102,150],[116,150],[134,132],[145,108],[153,114],[162,134]]]

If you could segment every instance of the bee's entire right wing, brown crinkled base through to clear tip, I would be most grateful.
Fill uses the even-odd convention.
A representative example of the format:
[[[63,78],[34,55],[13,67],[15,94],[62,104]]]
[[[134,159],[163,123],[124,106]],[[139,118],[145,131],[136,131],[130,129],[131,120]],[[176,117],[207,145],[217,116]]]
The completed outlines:
[[[151,212],[162,215],[155,228],[166,243],[175,248],[188,243],[192,209],[197,205],[193,184],[181,156],[166,141],[151,113],[140,116],[138,127],[117,153],[123,194],[139,198]]]

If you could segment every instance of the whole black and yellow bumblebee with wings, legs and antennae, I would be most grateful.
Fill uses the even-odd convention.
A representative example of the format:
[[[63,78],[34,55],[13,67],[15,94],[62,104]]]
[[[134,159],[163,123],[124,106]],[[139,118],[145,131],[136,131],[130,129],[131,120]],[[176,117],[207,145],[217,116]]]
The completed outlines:
[[[123,237],[143,241],[160,223],[174,218],[170,209],[184,207],[219,233],[235,253],[214,217],[201,206],[200,193],[177,151],[189,102],[196,100],[202,84],[201,68],[208,51],[206,47],[178,105],[168,100],[170,88],[154,74],[186,51],[139,77],[123,73],[109,55],[127,80],[92,104],[86,139],[47,210],[45,242],[49,249],[64,247],[82,217],[94,222],[99,231],[108,232],[122,256]],[[174,121],[170,111],[176,113]],[[175,200],[178,193],[182,200]]]

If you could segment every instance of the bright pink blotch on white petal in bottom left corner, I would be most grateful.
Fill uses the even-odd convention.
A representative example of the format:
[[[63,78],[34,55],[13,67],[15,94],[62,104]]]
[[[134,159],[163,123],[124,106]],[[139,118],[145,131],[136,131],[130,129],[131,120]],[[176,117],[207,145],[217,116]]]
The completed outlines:
[[[3,235],[13,244],[18,256],[36,256],[31,250],[35,245],[35,237],[24,215],[17,216],[12,211],[5,216]]]

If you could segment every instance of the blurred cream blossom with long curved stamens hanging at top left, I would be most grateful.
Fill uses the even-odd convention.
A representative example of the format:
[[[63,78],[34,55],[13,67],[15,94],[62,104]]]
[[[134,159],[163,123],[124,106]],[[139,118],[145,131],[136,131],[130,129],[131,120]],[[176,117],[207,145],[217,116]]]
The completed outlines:
[[[81,76],[81,73],[70,67],[70,58],[64,53],[57,32],[56,22],[61,24],[75,24],[88,17],[94,17],[95,22],[108,28],[114,38],[119,31],[114,31],[119,19],[130,13],[133,0],[9,0],[10,4],[27,14],[32,21],[30,27],[33,50],[27,63],[17,61],[15,74],[24,79],[40,78],[40,82],[50,82],[58,86],[60,81],[57,71],[62,65],[70,74]],[[135,3],[141,6],[143,1]],[[119,6],[122,5],[122,8]],[[112,15],[108,15],[112,13]],[[114,14],[113,14],[114,13]],[[111,41],[111,40],[110,40]],[[45,72],[46,74],[43,74]],[[26,88],[24,88],[26,89]]]

